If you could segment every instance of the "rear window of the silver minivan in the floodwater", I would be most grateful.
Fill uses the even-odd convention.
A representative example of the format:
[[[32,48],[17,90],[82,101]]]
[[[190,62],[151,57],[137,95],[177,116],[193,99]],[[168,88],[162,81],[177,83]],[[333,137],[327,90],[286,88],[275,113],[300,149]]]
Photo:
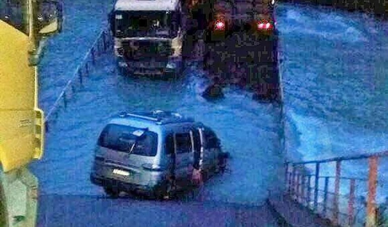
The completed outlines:
[[[145,131],[141,137],[137,137],[132,134],[137,130],[144,129],[109,124],[101,132],[97,144],[116,151],[129,153],[132,149],[132,154],[155,156],[158,148],[158,135],[151,131]]]

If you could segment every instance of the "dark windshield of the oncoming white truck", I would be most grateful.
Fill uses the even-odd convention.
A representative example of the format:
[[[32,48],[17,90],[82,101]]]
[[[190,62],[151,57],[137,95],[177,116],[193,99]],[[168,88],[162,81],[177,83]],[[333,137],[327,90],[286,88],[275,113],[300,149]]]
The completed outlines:
[[[174,12],[118,11],[114,14],[116,37],[165,37],[176,36]]]

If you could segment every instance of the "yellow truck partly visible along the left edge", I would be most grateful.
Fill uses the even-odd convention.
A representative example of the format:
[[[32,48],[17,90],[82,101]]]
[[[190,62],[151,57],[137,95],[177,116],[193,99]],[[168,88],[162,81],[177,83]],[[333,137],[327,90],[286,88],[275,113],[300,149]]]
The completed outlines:
[[[44,145],[36,65],[61,24],[57,2],[0,0],[0,227],[36,224],[38,182],[27,168]]]

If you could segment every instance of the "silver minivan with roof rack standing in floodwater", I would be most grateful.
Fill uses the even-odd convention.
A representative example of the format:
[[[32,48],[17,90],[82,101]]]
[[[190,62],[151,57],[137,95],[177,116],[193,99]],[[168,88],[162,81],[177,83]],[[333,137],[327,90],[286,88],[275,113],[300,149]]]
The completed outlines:
[[[226,157],[216,134],[192,118],[122,112],[98,138],[90,179],[110,196],[140,191],[160,198],[193,186],[194,169],[204,176],[223,172]]]

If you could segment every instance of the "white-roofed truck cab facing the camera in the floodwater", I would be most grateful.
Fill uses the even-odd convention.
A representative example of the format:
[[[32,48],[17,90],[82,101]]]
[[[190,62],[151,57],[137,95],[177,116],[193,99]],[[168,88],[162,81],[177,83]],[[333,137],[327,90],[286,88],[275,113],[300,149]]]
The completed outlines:
[[[133,75],[180,73],[180,19],[179,0],[118,0],[109,14],[118,67]]]

